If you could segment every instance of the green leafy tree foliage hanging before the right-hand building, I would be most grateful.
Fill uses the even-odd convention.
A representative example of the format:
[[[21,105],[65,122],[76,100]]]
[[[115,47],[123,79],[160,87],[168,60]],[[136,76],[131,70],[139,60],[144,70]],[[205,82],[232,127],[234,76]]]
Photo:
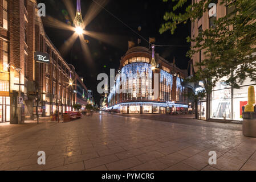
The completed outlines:
[[[168,0],[163,0],[167,2]],[[186,5],[188,0],[177,1],[173,11],[165,13],[160,33],[170,30],[172,34],[178,24],[194,22],[208,11],[211,0],[201,0],[193,5]],[[256,1],[255,0],[219,0],[221,4],[233,6],[228,15],[218,18],[214,26],[199,32],[196,38],[188,37],[188,42],[194,42],[187,56],[202,52],[205,59],[194,66],[201,67],[193,77],[186,81],[203,81],[206,93],[212,91],[217,81],[225,81],[233,88],[239,86],[247,77],[256,81]],[[185,13],[175,14],[175,11],[186,6]],[[225,80],[222,80],[225,78]]]

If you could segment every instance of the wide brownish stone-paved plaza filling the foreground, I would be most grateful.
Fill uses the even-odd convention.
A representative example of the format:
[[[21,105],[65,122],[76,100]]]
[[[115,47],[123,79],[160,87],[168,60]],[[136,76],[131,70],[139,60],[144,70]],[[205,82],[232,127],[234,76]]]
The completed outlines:
[[[237,124],[94,114],[72,122],[0,124],[0,170],[256,170],[256,138]],[[46,152],[46,165],[37,163]],[[217,164],[209,165],[209,151]]]

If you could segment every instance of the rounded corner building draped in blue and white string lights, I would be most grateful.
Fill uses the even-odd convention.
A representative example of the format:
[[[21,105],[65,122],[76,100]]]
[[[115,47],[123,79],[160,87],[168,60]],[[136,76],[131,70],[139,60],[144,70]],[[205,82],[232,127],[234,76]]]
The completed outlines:
[[[121,58],[119,76],[108,94],[108,109],[124,114],[169,113],[187,110],[185,88],[181,85],[186,71],[155,55],[157,67],[152,70],[152,52],[132,47]],[[159,73],[159,96],[153,98],[155,73]],[[121,82],[121,83],[120,83]],[[125,88],[125,89],[124,89]],[[117,92],[123,89],[124,92]]]

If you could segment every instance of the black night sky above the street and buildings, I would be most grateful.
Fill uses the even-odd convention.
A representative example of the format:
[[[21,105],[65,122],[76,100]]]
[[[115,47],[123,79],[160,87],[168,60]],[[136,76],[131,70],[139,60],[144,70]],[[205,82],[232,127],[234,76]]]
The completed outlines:
[[[76,0],[70,1],[74,4],[74,7],[76,7]],[[48,18],[47,16],[51,16],[61,22],[66,22],[63,10],[67,11],[67,8],[64,6],[63,1],[39,0],[38,3],[39,2],[43,2],[46,5],[46,18]],[[92,2],[92,0],[81,0],[83,16],[86,15]],[[129,27],[145,39],[149,37],[156,38],[156,44],[189,45],[189,43],[186,42],[186,37],[190,36],[190,23],[178,26],[174,35],[171,35],[170,31],[162,35],[159,33],[159,28],[161,24],[164,23],[164,14],[166,11],[172,10],[172,7],[173,3],[171,1],[166,3],[162,2],[162,0],[110,0],[105,6],[105,9],[128,24]],[[43,18],[43,22],[46,18]],[[71,16],[68,18],[72,23]],[[141,27],[140,31],[139,27]],[[44,29],[52,43],[54,43],[55,47],[58,49],[60,49],[73,33],[68,30],[48,26],[44,26]],[[107,73],[109,75],[110,68],[118,69],[121,56],[123,56],[128,49],[128,40],[137,42],[139,36],[103,9],[91,23],[88,24],[86,30],[106,34],[110,44],[84,36],[90,41],[87,45],[91,52],[92,63],[84,56],[79,39],[76,40],[74,46],[70,51],[66,52],[66,55],[63,57],[68,63],[75,66],[79,76],[84,77],[84,83],[88,89],[94,91],[97,104],[99,104],[100,95],[97,94],[96,90],[97,83],[99,82],[96,80],[97,75],[99,73]],[[148,47],[148,43],[141,39],[141,46]],[[156,52],[170,62],[173,61],[173,56],[175,56],[177,66],[181,69],[186,69],[188,67],[188,57],[185,55],[188,48],[189,47],[156,47]]]

